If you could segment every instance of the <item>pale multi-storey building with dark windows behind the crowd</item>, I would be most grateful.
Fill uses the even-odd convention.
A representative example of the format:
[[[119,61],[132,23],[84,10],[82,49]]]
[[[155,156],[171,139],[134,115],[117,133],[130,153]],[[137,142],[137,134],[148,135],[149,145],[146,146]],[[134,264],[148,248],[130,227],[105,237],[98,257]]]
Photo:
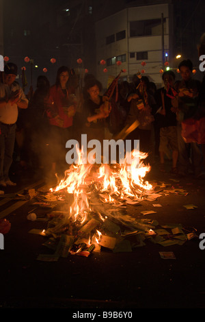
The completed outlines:
[[[143,75],[161,86],[164,62],[167,60],[172,68],[172,38],[170,3],[126,8],[103,18],[96,22],[96,77],[106,88],[109,76],[117,76],[122,69],[126,70],[122,79],[128,82],[143,70]],[[106,64],[100,64],[101,60]],[[122,62],[120,66],[116,64],[118,60]]]

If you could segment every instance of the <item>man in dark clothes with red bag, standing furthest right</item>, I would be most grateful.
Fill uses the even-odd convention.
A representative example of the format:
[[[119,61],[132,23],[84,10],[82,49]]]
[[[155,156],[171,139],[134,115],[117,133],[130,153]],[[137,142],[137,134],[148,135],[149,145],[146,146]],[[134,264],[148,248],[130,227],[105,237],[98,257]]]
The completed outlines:
[[[201,146],[197,143],[185,143],[181,133],[182,121],[189,119],[197,112],[197,97],[201,83],[192,78],[193,64],[191,60],[180,62],[178,69],[182,77],[181,81],[175,84],[178,92],[178,174],[180,177],[184,177],[189,174],[192,168],[195,177],[200,178],[204,175]]]

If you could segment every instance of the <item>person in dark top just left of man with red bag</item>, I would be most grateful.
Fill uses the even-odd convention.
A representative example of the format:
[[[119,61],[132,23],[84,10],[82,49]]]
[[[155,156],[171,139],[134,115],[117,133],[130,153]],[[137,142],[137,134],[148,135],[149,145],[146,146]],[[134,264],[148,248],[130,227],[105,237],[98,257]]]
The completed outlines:
[[[165,154],[169,157],[169,149],[172,150],[172,170],[177,173],[178,140],[176,110],[172,106],[172,99],[177,95],[174,90],[175,74],[173,71],[165,71],[162,75],[164,87],[156,91],[156,104],[159,112],[156,112],[156,122],[160,129],[159,156],[160,170],[165,172]]]

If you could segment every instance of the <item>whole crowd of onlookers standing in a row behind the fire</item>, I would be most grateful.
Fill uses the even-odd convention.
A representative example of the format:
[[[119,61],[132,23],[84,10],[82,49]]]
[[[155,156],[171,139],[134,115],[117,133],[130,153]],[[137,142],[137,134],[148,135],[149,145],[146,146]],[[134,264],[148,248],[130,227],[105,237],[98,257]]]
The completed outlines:
[[[199,55],[204,48],[202,36]],[[118,82],[107,101],[94,75],[87,74],[79,90],[79,79],[67,66],[59,67],[54,85],[40,75],[35,92],[25,95],[16,82],[16,64],[5,64],[0,83],[0,185],[15,185],[9,173],[16,157],[22,168],[63,175],[68,169],[69,139],[81,142],[81,134],[87,134],[87,141],[94,138],[102,143],[136,120],[139,126],[126,140],[139,140],[140,151],[148,155],[145,162],[152,164],[157,156],[159,169],[165,172],[168,158],[172,160],[169,171],[175,175],[192,172],[204,177],[205,127],[197,128],[196,122],[204,124],[205,81],[192,76],[189,59],[180,62],[178,69],[181,79],[176,81],[174,71],[165,71],[161,88],[136,73],[132,82]]]

